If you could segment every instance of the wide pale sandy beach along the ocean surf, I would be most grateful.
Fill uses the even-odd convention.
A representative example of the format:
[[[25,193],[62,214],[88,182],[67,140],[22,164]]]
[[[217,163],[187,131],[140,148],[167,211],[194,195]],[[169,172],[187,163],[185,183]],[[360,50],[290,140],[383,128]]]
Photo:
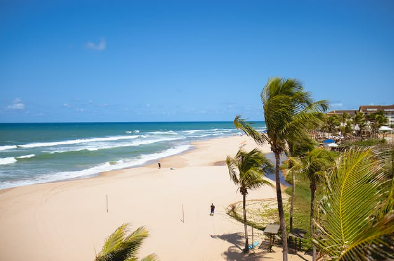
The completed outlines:
[[[244,141],[246,150],[256,147],[245,136],[213,139],[161,159],[161,169],[155,162],[94,178],[1,190],[0,260],[92,261],[105,238],[123,223],[131,223],[130,230],[149,230],[140,257],[156,253],[162,261],[281,260],[279,248],[242,254],[243,224],[226,214],[227,206],[242,198],[221,162],[234,156]],[[270,152],[267,145],[260,149]],[[262,187],[247,199],[275,197],[274,188]],[[213,217],[211,203],[216,205]],[[305,259],[311,260],[289,254],[289,260]]]

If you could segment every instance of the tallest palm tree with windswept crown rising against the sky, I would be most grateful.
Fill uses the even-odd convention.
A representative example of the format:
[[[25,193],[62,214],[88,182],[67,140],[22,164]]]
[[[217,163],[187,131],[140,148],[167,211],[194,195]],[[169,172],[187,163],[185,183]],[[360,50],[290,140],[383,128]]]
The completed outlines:
[[[287,141],[296,140],[304,135],[305,130],[318,126],[318,116],[326,111],[328,106],[327,101],[313,102],[311,94],[305,92],[301,82],[296,79],[270,78],[260,96],[267,133],[260,134],[245,120],[240,119],[240,115],[236,116],[234,124],[256,143],[268,142],[275,154],[275,184],[282,230],[283,261],[287,261],[286,224],[279,177],[280,155],[285,151]]]

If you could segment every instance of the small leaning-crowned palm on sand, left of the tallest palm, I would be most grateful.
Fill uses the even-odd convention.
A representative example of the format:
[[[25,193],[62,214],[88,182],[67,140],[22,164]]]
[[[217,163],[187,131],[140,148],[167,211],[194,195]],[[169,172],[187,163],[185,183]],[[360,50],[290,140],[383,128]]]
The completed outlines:
[[[240,149],[234,158],[227,156],[226,163],[229,168],[230,179],[239,186],[239,192],[243,196],[243,223],[245,225],[245,249],[243,252],[248,253],[246,195],[248,195],[249,189],[256,189],[262,185],[272,186],[269,181],[264,179],[264,173],[273,173],[273,166],[269,159],[257,148],[250,152]]]

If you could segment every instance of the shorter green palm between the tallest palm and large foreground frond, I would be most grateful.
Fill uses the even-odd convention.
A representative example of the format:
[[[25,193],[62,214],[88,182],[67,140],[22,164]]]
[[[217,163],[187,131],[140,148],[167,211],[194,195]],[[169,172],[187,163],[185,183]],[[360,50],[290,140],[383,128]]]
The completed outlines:
[[[311,238],[314,235],[313,226],[313,215],[314,215],[314,204],[315,204],[315,193],[317,189],[317,183],[321,182],[325,178],[326,171],[332,167],[335,160],[335,154],[324,148],[315,148],[308,153],[306,157],[301,159],[301,166],[299,172],[304,174],[309,179],[309,187],[311,189],[311,208],[310,208],[310,233]],[[297,167],[297,166],[296,166]],[[316,261],[316,246],[312,243],[312,260]]]

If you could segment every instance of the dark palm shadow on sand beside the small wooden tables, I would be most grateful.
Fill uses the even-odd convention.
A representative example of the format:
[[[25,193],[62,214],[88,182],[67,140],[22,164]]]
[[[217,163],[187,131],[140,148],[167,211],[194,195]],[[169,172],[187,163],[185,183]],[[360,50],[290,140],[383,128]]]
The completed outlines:
[[[221,254],[224,261],[256,261],[263,258],[265,255],[264,252],[255,252],[253,249],[251,249],[248,254],[244,254],[245,236],[241,233],[210,236],[233,244],[233,246],[230,246],[227,251]]]

